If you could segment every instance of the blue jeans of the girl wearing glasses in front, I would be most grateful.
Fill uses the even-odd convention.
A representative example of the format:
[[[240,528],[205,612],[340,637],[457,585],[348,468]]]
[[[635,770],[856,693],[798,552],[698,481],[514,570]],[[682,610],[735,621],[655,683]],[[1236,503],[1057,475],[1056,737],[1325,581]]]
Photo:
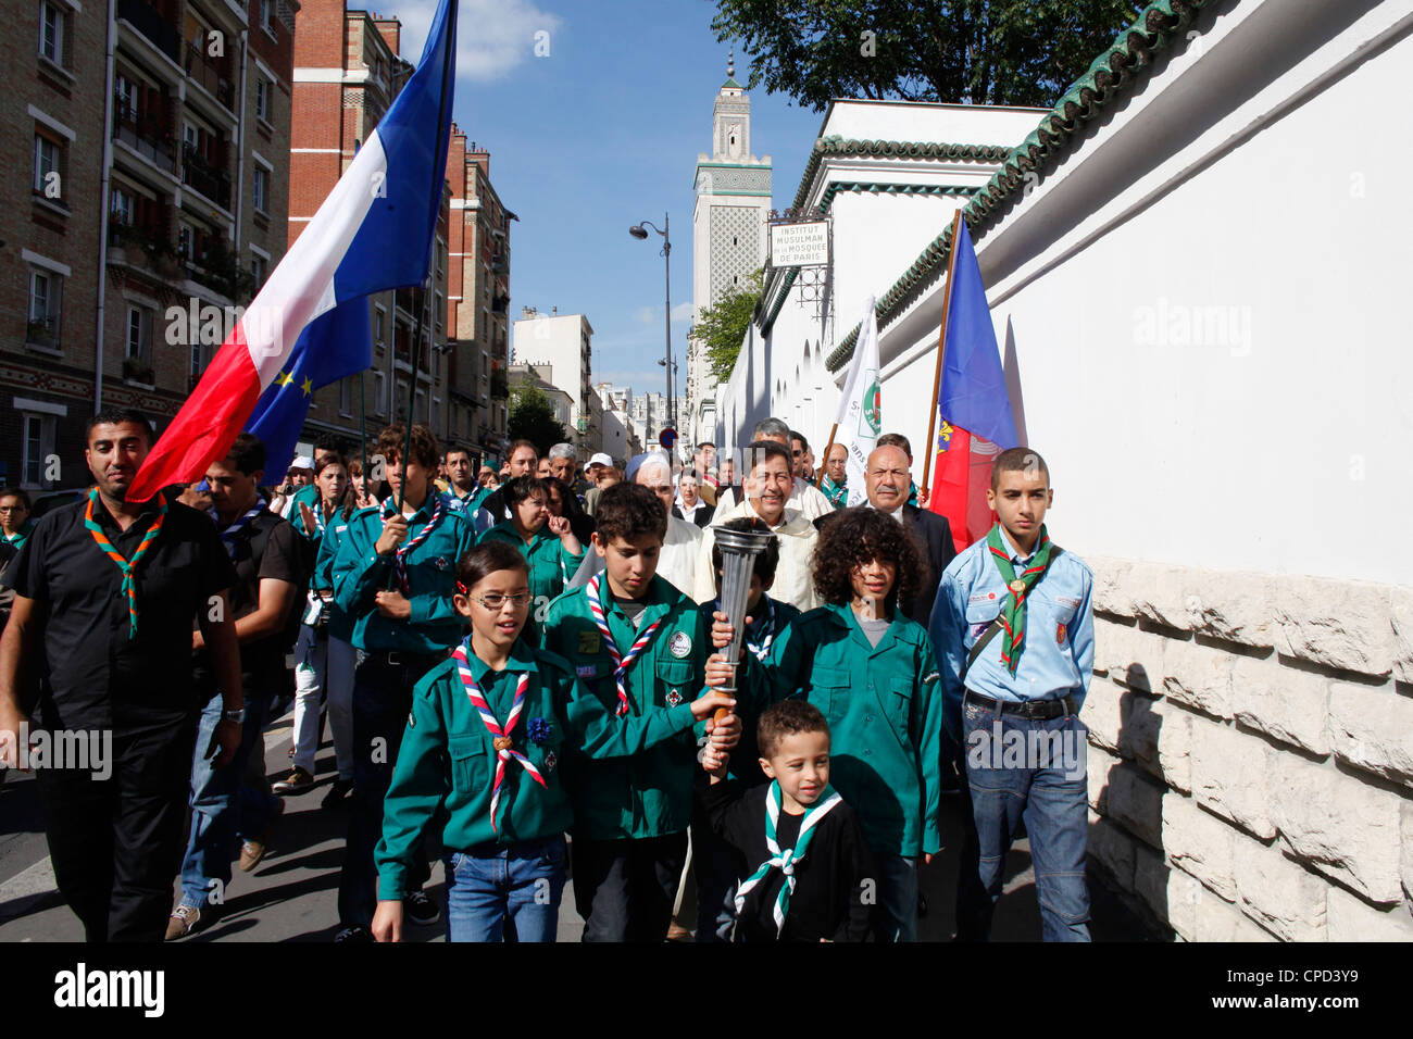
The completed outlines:
[[[448,855],[447,940],[554,941],[564,858],[564,837]]]

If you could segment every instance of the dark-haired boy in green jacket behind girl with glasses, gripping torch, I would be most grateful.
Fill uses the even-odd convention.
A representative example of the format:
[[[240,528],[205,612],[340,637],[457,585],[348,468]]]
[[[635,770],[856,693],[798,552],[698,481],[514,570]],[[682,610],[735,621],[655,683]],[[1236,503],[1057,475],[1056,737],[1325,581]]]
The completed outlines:
[[[593,551],[605,570],[550,604],[545,649],[569,660],[610,714],[694,700],[711,636],[697,605],[656,574],[663,503],[644,486],[617,483],[599,498],[595,519]],[[726,715],[715,731],[735,744],[740,722]],[[697,741],[681,732],[615,761],[568,753],[565,769],[584,940],[661,941],[687,855]]]

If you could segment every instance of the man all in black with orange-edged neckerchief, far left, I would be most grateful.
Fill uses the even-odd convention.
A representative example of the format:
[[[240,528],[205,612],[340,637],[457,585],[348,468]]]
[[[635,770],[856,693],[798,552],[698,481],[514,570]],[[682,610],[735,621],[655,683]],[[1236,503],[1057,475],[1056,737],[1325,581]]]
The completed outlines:
[[[235,581],[211,520],[157,495],[124,502],[151,447],[137,411],[89,423],[96,486],[44,516],[10,570],[0,639],[0,753],[14,763],[25,717],[16,698],[27,657],[48,657],[37,722],[112,732],[112,773],[38,769],[59,892],[90,941],[161,941],[181,859],[196,735],[192,619],[225,707],[240,708],[240,657],[226,589]],[[240,725],[223,720],[209,751],[229,762]],[[8,749],[7,749],[8,748]]]

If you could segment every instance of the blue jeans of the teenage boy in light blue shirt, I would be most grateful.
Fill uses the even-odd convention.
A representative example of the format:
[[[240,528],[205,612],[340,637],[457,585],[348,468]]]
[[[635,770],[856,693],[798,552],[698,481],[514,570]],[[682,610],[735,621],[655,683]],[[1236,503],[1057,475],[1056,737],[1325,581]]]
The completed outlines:
[[[1089,888],[1084,878],[1088,732],[1075,715],[1031,721],[974,703],[962,705],[962,775],[971,792],[971,820],[958,878],[958,937],[991,937],[1006,852],[1024,821],[1041,937],[1089,940]],[[1013,751],[1022,741],[1017,763]]]

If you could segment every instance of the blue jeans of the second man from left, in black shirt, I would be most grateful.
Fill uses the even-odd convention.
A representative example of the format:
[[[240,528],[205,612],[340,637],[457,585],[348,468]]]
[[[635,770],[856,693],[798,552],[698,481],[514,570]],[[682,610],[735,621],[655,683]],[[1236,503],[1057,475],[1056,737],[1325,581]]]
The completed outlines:
[[[240,746],[236,756],[219,769],[215,759],[206,756],[206,751],[225,701],[218,693],[201,710],[196,749],[191,761],[191,833],[181,864],[182,902],[203,906],[208,900],[223,900],[230,884],[230,861],[236,857],[237,827],[244,835],[256,837],[270,823],[270,806],[253,796],[256,792],[242,790],[246,763],[252,748],[260,745],[260,729],[268,705],[268,698],[246,693],[246,722],[240,732]]]

